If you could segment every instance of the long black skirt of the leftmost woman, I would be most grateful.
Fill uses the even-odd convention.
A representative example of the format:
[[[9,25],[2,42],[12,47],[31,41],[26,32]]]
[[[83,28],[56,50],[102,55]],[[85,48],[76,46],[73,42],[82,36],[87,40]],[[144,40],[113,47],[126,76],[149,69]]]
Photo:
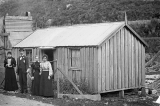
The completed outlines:
[[[16,91],[18,90],[17,80],[14,68],[5,69],[5,85],[4,90],[6,91]]]

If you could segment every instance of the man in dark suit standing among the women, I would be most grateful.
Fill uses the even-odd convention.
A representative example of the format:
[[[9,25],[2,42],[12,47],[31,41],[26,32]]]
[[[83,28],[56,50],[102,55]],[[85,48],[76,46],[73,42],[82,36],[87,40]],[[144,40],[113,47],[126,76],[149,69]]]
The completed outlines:
[[[27,93],[27,69],[29,67],[28,58],[24,55],[24,49],[20,48],[20,56],[17,59],[17,74],[21,93]]]

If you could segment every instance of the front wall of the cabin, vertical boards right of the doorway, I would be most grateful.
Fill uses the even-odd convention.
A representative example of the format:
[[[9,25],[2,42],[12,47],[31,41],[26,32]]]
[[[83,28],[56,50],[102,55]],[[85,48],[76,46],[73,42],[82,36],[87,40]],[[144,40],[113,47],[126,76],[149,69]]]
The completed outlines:
[[[77,49],[77,48],[76,48]],[[98,65],[97,65],[97,48],[96,47],[81,47],[79,53],[72,53],[79,59],[78,67],[71,67],[71,50],[74,48],[58,47],[54,53],[55,59],[58,60],[58,67],[65,72],[72,80],[81,81],[88,84],[93,92],[98,91]],[[77,61],[77,60],[76,60]],[[60,77],[63,78],[62,74]],[[56,76],[55,76],[56,78]]]

